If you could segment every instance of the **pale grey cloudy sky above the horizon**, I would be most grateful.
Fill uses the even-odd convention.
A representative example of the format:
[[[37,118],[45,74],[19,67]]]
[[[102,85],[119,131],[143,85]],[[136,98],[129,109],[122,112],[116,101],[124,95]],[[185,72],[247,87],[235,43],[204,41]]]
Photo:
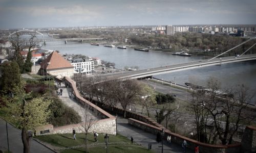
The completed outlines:
[[[256,0],[0,0],[0,29],[256,24]]]

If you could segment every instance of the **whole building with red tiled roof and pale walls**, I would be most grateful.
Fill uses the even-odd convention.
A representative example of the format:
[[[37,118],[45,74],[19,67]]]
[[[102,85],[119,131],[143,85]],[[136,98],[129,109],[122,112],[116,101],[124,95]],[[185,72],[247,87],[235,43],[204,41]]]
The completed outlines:
[[[65,76],[72,78],[74,75],[74,66],[54,51],[41,62],[40,73],[50,73],[58,78]]]

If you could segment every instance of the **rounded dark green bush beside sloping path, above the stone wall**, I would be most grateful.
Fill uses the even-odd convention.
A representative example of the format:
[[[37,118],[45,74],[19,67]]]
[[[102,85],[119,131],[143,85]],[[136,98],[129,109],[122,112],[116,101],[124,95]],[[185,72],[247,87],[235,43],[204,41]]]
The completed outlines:
[[[54,126],[77,124],[81,122],[81,117],[78,113],[65,104],[62,104],[59,99],[54,98],[49,109],[51,109],[51,115],[48,121]]]

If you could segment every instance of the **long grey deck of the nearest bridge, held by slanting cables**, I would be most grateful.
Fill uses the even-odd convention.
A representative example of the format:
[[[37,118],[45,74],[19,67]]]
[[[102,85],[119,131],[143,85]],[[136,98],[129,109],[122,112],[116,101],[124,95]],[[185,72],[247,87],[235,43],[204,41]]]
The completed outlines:
[[[106,81],[110,80],[131,80],[131,79],[138,79],[138,78],[148,78],[152,77],[153,75],[165,74],[170,72],[177,72],[187,69],[194,69],[194,68],[201,68],[206,66],[212,65],[221,65],[226,63],[234,63],[234,62],[243,62],[243,61],[250,61],[256,60],[256,54],[251,55],[244,55],[242,57],[224,57],[218,58],[213,60],[200,60],[200,61],[193,61],[188,63],[182,64],[175,64],[175,65],[166,65],[156,68],[150,69],[142,69],[142,70],[135,70],[135,71],[125,71],[125,72],[118,72],[113,74],[106,74]]]

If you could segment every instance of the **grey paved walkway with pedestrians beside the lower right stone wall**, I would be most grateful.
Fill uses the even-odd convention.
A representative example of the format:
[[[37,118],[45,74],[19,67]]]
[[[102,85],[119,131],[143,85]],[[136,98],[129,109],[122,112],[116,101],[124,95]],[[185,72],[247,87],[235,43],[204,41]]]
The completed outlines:
[[[152,144],[152,149],[155,152],[161,152],[162,144],[156,142],[156,135],[145,132],[141,129],[138,129],[135,126],[132,126],[128,123],[127,119],[117,118],[117,133],[123,135],[129,139],[131,136],[134,138],[134,142],[141,144],[144,147],[148,147],[148,143]],[[163,152],[173,153],[173,152],[183,152],[181,145],[170,143],[164,140],[163,143]],[[193,152],[192,150],[187,150],[186,152]]]

